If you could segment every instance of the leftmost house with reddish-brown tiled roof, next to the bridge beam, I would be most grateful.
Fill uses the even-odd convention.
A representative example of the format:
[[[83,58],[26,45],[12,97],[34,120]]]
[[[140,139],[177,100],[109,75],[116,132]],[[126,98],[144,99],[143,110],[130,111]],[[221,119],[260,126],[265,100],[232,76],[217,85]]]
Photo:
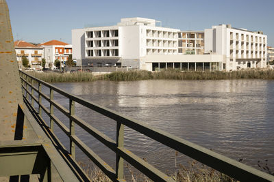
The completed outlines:
[[[18,61],[18,68],[20,70],[23,68],[23,57],[26,57],[29,61],[29,67],[33,67],[36,70],[42,69],[42,47],[30,44],[23,40],[18,40],[14,42],[14,48],[16,52],[16,59]]]

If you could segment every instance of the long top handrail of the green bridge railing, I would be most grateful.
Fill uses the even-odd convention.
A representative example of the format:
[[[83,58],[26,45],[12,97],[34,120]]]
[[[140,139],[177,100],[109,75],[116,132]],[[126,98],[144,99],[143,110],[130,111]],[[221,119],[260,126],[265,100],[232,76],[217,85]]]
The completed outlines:
[[[47,82],[38,80],[37,78],[34,78],[34,80],[42,82],[42,84],[47,85],[58,93],[65,93],[64,91],[58,89],[57,87],[54,87],[53,85],[48,84]],[[184,153],[185,155],[188,155],[189,157],[192,157],[193,159],[203,164],[206,164],[207,166],[215,168],[216,170],[219,170],[220,172],[223,172],[224,174],[229,175],[230,177],[234,177],[235,179],[238,179],[240,181],[249,181],[251,179],[256,179],[258,181],[273,181],[274,179],[272,175],[266,174],[265,172],[262,172],[260,170],[256,170],[255,168],[251,168],[240,162],[236,162],[235,160],[229,159],[228,157],[210,151],[199,145],[195,145],[192,142],[188,142],[187,140],[184,140],[162,130],[154,129],[153,127],[143,122],[129,117],[125,117],[124,115],[121,115],[119,112],[115,112],[114,110],[110,110],[103,106],[93,104],[92,102],[83,100],[82,98],[75,95],[69,95],[68,93],[65,93],[64,96],[69,97],[71,100],[74,100],[75,102],[78,102],[79,104],[82,104],[87,108],[95,110],[100,114],[109,117],[110,119],[121,122],[123,125],[126,125],[133,130],[136,130],[137,132],[140,132],[141,134],[144,134],[145,136],[148,136],[153,140],[156,140],[168,147],[171,147],[171,149],[175,149],[180,153]]]

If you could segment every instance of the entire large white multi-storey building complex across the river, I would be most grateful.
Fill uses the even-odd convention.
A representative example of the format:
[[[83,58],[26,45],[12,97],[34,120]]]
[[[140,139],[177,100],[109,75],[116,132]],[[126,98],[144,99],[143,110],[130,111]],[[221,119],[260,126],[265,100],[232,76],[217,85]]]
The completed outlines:
[[[73,29],[73,59],[77,65],[116,65],[150,71],[168,67],[181,70],[236,70],[238,65],[242,68],[264,67],[266,35],[229,29],[226,25],[214,26],[206,31],[180,31],[157,27],[155,23],[156,20],[148,18],[122,18],[111,27]],[[239,57],[238,53],[237,57],[231,58],[234,60],[232,66],[226,66],[227,57],[230,61],[231,55],[230,33],[236,36],[236,31],[241,31],[237,35],[245,36],[245,39],[254,37],[254,42],[244,39],[244,43],[240,44],[245,46],[239,46],[236,43],[239,40],[235,40],[235,51],[240,48],[240,52],[245,52],[248,57],[244,53]],[[251,44],[254,46],[251,47]]]

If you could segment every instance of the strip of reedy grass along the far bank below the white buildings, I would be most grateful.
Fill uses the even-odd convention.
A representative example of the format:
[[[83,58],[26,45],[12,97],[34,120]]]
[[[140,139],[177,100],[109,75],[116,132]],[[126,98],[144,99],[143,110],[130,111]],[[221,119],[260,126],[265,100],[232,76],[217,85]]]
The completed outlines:
[[[136,80],[233,80],[233,79],[264,79],[274,80],[274,70],[238,70],[232,72],[180,72],[179,70],[164,70],[149,72],[132,70],[129,72],[112,72],[104,75],[93,75],[89,72],[60,73],[30,73],[46,82],[86,82],[94,80],[136,81]]]

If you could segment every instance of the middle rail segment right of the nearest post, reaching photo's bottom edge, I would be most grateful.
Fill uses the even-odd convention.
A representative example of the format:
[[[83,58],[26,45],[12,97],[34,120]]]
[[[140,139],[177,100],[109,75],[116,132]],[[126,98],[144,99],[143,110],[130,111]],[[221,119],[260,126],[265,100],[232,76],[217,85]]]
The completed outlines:
[[[157,168],[154,168],[151,166],[151,164],[145,162],[145,160],[142,160],[140,157],[132,153],[131,151],[125,149],[125,148],[118,148],[117,153],[123,157],[124,160],[129,162],[129,164],[132,164],[135,168],[140,170],[143,174],[147,175],[149,179],[152,179],[153,181],[173,181],[171,177],[168,177],[163,172],[158,170]]]

